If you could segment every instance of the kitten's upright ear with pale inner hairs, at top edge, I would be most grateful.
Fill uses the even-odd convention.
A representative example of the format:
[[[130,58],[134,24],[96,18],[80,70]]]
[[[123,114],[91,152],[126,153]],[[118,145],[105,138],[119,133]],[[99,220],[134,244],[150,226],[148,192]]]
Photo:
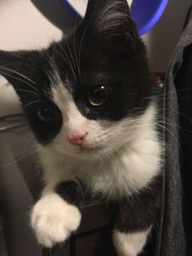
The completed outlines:
[[[97,38],[113,46],[137,43],[136,24],[130,17],[126,0],[89,0],[85,24]]]

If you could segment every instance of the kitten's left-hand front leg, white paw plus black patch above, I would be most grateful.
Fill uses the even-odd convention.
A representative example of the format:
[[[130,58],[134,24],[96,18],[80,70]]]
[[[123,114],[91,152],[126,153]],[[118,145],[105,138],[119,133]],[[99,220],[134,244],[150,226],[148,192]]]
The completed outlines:
[[[46,247],[65,241],[81,223],[78,206],[83,200],[78,180],[47,186],[33,206],[31,225],[37,241]]]

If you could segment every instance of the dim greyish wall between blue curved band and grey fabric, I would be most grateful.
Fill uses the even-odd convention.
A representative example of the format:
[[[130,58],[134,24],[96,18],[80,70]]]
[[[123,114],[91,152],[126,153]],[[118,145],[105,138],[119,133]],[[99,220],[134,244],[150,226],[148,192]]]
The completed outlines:
[[[164,72],[181,36],[191,0],[169,0],[159,23],[145,35],[151,70]]]

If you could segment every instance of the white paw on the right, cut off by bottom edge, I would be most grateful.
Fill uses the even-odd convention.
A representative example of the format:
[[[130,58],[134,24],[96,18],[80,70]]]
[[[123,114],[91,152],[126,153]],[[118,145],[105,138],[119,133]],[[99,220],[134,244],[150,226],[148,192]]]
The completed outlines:
[[[118,256],[137,256],[146,245],[150,228],[144,232],[123,233],[115,231],[113,234],[114,245]]]

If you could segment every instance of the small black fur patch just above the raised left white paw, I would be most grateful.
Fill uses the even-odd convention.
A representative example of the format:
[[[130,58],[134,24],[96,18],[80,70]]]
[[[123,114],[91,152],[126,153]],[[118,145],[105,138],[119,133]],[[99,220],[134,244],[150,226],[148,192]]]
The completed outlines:
[[[84,190],[77,179],[59,183],[55,188],[55,192],[69,204],[76,205],[77,207],[80,207],[81,202],[84,201]]]

